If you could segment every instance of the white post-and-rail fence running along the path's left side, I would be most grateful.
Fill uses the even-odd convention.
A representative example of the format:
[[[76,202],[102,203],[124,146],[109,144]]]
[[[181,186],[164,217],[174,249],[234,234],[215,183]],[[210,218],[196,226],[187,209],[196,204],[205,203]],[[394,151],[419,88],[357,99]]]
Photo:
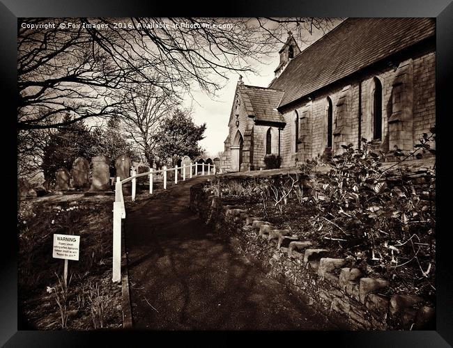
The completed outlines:
[[[201,166],[201,172],[198,171],[199,166]],[[192,168],[195,168],[194,175],[213,175],[215,174],[215,164],[212,166],[208,164],[208,171],[205,173],[204,163],[194,163],[190,166],[185,164],[181,167],[167,168],[164,166],[160,171],[153,171],[151,168],[150,171],[146,173],[137,174],[135,169],[132,168],[131,175],[127,179],[120,180],[120,177],[116,177],[115,183],[115,202],[113,209],[113,276],[112,280],[114,282],[121,281],[121,220],[125,219],[126,211],[124,207],[124,197],[123,197],[123,184],[127,182],[132,182],[132,200],[135,200],[135,194],[137,192],[137,177],[143,177],[148,175],[149,177],[149,193],[153,193],[153,179],[154,175],[162,173],[164,189],[167,189],[167,172],[174,171],[175,174],[175,184],[178,184],[178,170],[182,169],[183,171],[183,181],[187,177],[187,169],[189,171],[188,179],[192,178]]]

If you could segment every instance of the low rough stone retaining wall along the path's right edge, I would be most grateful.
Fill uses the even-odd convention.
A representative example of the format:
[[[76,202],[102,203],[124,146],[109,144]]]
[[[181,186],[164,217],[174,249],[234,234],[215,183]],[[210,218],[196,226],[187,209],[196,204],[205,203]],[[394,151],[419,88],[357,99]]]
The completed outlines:
[[[270,268],[270,275],[320,305],[320,310],[327,314],[335,310],[356,329],[412,330],[432,325],[435,309],[420,306],[420,296],[379,294],[385,292],[387,280],[364,276],[360,269],[347,267],[345,259],[329,258],[328,250],[310,248],[311,242],[275,229],[243,207],[229,205],[228,198],[207,196],[202,185],[190,190],[192,211],[217,232],[237,237],[247,256],[258,259]]]

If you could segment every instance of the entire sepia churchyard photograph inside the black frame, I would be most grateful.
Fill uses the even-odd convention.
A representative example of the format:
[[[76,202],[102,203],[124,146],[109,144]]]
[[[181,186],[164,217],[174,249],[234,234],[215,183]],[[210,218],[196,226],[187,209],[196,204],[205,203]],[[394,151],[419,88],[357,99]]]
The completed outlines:
[[[19,329],[436,329],[432,18],[20,20]]]

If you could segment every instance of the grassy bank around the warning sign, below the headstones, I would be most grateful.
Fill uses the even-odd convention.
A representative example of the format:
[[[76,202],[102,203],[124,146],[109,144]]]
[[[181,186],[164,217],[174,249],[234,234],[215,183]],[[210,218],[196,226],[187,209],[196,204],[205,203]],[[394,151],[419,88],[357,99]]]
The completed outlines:
[[[121,285],[112,283],[113,197],[55,196],[20,202],[19,312],[38,330],[122,327]],[[52,258],[54,233],[80,235],[79,261]]]

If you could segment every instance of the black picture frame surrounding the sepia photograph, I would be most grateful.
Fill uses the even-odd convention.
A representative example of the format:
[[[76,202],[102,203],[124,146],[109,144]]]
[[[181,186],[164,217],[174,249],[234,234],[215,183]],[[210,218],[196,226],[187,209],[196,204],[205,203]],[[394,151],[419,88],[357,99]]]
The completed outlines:
[[[93,1],[79,0],[0,0],[0,36],[1,36],[1,84],[3,103],[3,136],[7,141],[3,149],[10,164],[4,163],[3,188],[10,189],[10,195],[3,196],[3,203],[12,212],[3,213],[3,233],[0,241],[0,345],[6,347],[79,347],[89,345],[93,338],[102,338],[102,345],[110,342],[130,344],[131,340],[144,338],[146,335],[158,335],[157,332],[108,331],[108,332],[63,332],[63,331],[17,331],[17,234],[16,213],[13,201],[15,192],[15,171],[17,167],[15,150],[15,98],[17,91],[17,18],[18,17],[130,17],[135,15],[168,17],[186,15],[193,17],[436,17],[436,200],[438,200],[436,234],[436,331],[338,331],[338,332],[298,332],[291,333],[291,338],[298,344],[325,344],[331,342],[346,347],[451,347],[453,345],[453,271],[450,262],[450,244],[447,242],[451,228],[448,228],[447,203],[449,183],[447,177],[448,162],[443,161],[447,151],[445,139],[451,118],[450,100],[453,70],[453,3],[452,0],[312,0],[312,1],[238,1],[231,0],[217,3],[199,1],[176,5],[174,1],[159,3],[129,1]],[[448,157],[448,156],[447,156]],[[439,204],[445,202],[445,204]],[[5,221],[8,221],[8,228]],[[187,334],[172,334],[171,338],[186,340]],[[240,333],[223,334],[222,340],[210,338],[198,341],[205,345],[237,342]],[[279,338],[281,344],[291,344],[285,334]],[[260,340],[268,340],[269,333],[259,335]],[[285,338],[286,337],[286,338]],[[157,344],[155,338],[146,345]],[[312,340],[314,339],[314,341]],[[215,340],[215,341],[213,341]],[[309,343],[311,342],[311,343]],[[185,342],[185,345],[188,341]]]

